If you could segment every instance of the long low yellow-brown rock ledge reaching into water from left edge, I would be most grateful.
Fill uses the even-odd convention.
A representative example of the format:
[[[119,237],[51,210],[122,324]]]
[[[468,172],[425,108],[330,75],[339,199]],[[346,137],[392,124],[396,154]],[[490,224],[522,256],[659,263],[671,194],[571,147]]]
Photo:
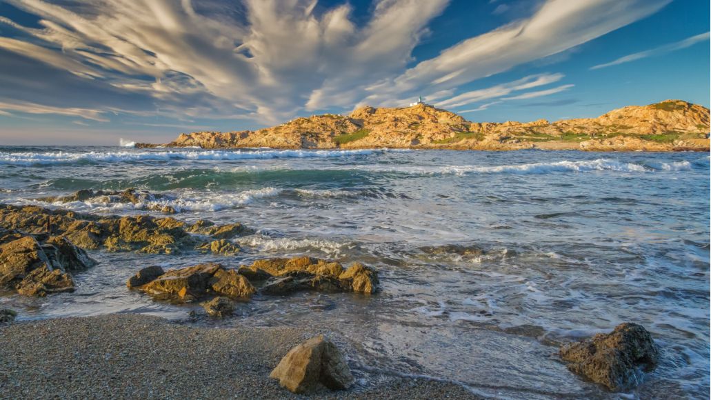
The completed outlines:
[[[205,242],[203,237],[229,239],[252,232],[235,223],[215,225],[198,221],[193,225],[171,217],[135,215],[127,217],[80,214],[36,206],[0,204],[0,227],[21,229],[31,234],[50,234],[68,239],[83,249],[109,252],[172,254],[186,251],[235,254],[239,248],[229,242]],[[57,240],[59,240],[57,239]]]

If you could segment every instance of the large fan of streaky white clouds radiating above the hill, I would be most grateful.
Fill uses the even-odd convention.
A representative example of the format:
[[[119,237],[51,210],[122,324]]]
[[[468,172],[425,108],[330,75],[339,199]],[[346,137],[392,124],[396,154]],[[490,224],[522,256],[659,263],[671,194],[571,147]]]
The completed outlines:
[[[461,85],[602,36],[669,0],[548,0],[529,18],[419,63],[412,50],[449,0],[375,0],[363,23],[355,23],[348,2],[326,9],[316,1],[245,0],[243,8],[226,10],[190,0],[9,1],[39,16],[41,28],[0,18],[21,33],[0,37],[1,50],[149,97],[159,110],[154,114],[273,123],[304,110],[398,105],[419,92],[451,97]],[[514,86],[545,85],[544,79]],[[466,92],[442,104],[528,88]],[[60,107],[21,107],[62,114]],[[101,121],[100,108],[92,102],[63,113]]]

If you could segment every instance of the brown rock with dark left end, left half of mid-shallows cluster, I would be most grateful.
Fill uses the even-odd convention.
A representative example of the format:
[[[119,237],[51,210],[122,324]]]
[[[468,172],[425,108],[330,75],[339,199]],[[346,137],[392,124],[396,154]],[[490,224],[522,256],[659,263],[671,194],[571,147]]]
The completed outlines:
[[[158,300],[181,302],[210,295],[250,298],[255,293],[255,287],[245,276],[226,270],[220,264],[199,264],[170,271],[148,267],[129,278],[126,285]]]

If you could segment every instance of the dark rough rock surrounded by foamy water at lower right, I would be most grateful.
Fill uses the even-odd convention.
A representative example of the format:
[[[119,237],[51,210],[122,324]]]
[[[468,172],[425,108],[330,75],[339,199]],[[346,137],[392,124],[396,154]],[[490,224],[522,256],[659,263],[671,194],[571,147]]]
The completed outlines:
[[[659,362],[659,348],[641,325],[623,323],[611,333],[560,347],[568,369],[611,391],[636,387]]]

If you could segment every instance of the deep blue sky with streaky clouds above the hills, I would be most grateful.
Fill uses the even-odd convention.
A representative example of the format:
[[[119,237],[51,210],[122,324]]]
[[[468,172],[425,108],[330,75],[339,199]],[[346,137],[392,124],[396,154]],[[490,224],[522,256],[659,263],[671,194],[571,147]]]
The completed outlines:
[[[0,146],[417,99],[469,121],[709,107],[708,0],[0,0]]]

